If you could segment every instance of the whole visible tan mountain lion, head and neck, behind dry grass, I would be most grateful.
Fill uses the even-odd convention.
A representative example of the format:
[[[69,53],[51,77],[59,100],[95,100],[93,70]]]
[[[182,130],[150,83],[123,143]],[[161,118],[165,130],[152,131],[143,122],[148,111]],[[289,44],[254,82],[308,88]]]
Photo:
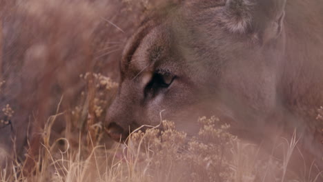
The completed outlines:
[[[296,129],[307,165],[322,170],[322,9],[319,0],[188,0],[150,12],[124,50],[110,136],[126,139],[160,115],[194,136],[197,118],[215,114],[256,143]]]

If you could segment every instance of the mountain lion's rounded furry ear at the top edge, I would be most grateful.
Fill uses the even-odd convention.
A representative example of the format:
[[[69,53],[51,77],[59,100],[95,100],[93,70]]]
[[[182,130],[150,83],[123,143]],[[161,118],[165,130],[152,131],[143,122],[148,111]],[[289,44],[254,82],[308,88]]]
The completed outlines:
[[[286,0],[227,0],[221,21],[233,33],[251,32],[262,43],[282,32]]]

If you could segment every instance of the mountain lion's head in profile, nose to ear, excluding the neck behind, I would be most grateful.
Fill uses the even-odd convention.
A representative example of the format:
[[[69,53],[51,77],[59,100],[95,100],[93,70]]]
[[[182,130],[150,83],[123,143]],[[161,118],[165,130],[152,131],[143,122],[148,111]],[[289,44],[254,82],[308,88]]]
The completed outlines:
[[[150,14],[121,59],[112,139],[161,119],[194,135],[204,115],[264,127],[279,104],[283,18],[284,2],[274,0],[190,0]]]

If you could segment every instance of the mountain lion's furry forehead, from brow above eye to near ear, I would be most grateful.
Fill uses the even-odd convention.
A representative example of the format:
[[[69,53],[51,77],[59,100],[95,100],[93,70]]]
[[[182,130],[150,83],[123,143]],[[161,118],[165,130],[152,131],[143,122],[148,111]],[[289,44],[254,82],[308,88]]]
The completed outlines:
[[[173,9],[164,17],[145,21],[124,49],[121,80],[153,72],[156,63],[172,65],[170,67],[175,70],[179,64],[201,67],[207,59],[221,59],[222,54],[231,48],[231,39],[235,37],[228,36],[223,28],[219,28],[215,21],[218,9],[206,9],[197,11],[189,4]]]

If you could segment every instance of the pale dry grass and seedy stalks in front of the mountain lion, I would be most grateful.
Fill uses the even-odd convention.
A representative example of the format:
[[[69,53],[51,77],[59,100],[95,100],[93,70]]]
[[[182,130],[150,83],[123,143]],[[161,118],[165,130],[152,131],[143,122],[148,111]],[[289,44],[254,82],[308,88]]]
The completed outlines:
[[[54,122],[57,115],[48,121]],[[199,119],[198,136],[189,138],[162,121],[164,130],[151,128],[134,132],[127,143],[113,148],[82,142],[73,148],[68,139],[50,143],[43,136],[41,156],[35,169],[23,175],[23,165],[12,163],[0,172],[0,181],[308,181],[289,172],[288,162],[295,152],[296,132],[291,141],[280,143],[287,150],[282,160],[260,154],[257,145],[240,141],[228,132],[229,125],[216,117]],[[50,132],[46,125],[46,131]],[[64,141],[61,145],[60,141]]]

